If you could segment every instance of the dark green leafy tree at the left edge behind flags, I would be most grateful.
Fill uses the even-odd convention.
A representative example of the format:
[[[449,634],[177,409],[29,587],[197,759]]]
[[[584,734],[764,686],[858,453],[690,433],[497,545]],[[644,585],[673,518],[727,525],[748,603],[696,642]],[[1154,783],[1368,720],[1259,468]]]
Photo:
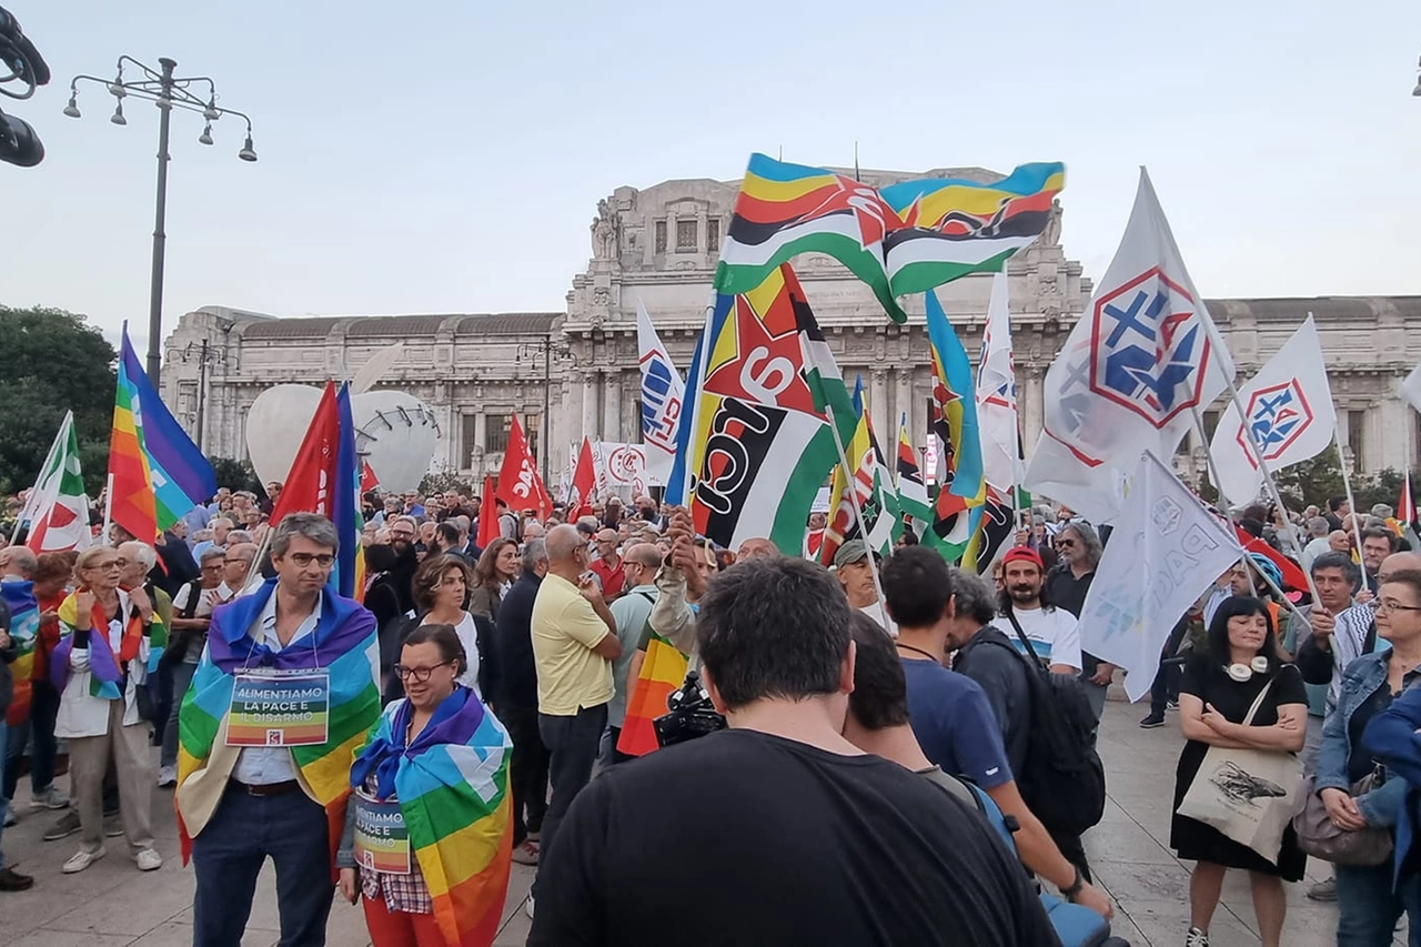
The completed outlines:
[[[98,495],[114,418],[114,347],[84,316],[47,306],[0,304],[0,491],[34,483],[64,412],[72,410],[84,482]]]

